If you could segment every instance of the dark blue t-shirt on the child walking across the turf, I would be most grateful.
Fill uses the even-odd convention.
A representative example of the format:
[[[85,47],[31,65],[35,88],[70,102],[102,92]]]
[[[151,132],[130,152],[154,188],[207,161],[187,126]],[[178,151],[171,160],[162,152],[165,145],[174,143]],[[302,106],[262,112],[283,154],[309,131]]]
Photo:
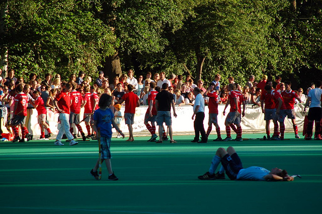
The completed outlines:
[[[97,128],[101,137],[112,138],[112,119],[114,114],[110,109],[98,109],[94,112],[94,121],[97,121]]]

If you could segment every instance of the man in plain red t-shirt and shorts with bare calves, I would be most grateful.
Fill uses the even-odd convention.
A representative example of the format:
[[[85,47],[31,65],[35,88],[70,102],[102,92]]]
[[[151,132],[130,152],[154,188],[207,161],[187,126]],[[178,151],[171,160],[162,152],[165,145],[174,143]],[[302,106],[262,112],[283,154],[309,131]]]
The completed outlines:
[[[133,93],[133,85],[128,84],[127,89],[128,93],[124,94],[118,102],[119,104],[122,104],[125,101],[124,119],[125,124],[127,124],[127,127],[129,128],[130,134],[129,139],[126,141],[134,141],[132,125],[134,124],[135,108],[140,106],[140,101],[139,97]]]

